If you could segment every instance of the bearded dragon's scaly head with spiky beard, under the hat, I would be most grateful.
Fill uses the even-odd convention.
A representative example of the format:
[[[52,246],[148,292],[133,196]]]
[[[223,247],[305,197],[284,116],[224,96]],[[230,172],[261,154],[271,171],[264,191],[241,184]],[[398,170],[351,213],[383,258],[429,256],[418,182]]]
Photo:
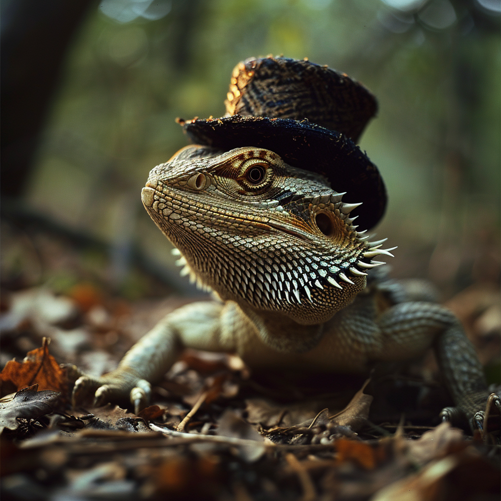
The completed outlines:
[[[192,145],[150,172],[142,201],[198,284],[312,325],[353,301],[371,258],[389,254],[357,232],[359,204],[343,194],[267,149]]]

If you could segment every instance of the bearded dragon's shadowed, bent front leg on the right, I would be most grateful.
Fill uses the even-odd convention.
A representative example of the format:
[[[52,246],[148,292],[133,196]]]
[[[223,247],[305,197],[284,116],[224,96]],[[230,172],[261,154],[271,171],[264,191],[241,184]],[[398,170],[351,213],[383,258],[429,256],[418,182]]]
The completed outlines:
[[[487,384],[475,349],[452,312],[433,303],[401,303],[386,310],[377,325],[382,338],[378,360],[405,360],[433,346],[454,404],[472,428],[481,426]]]

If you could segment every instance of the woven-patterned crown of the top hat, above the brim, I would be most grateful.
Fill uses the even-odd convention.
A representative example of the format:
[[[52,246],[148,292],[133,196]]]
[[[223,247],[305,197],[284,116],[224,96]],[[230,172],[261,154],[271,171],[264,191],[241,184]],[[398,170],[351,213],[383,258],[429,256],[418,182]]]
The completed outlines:
[[[348,75],[307,59],[282,57],[239,63],[224,104],[227,116],[306,118],[354,142],[377,112],[376,98]]]

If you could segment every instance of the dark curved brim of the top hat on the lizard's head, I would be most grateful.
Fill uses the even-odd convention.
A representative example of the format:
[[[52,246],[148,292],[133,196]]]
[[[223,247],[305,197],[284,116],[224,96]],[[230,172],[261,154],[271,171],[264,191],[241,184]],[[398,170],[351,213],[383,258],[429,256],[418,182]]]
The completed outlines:
[[[197,144],[224,151],[242,146],[271,150],[292,165],[325,176],[343,201],[363,202],[353,211],[360,230],[374,227],[386,208],[386,189],[377,167],[351,139],[306,120],[242,117],[179,121]]]

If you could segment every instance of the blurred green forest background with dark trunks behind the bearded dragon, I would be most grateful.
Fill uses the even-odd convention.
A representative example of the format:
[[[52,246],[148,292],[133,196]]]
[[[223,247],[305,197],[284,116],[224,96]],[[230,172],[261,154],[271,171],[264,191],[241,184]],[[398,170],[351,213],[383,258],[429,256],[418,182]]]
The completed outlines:
[[[27,240],[43,227],[81,244],[86,280],[113,294],[198,294],[141,187],[186,144],[175,118],[223,115],[232,68],[267,54],[327,64],[378,98],[360,144],[389,194],[377,232],[399,246],[392,275],[445,299],[497,287],[499,0],[35,4],[2,2],[4,288],[82,280],[50,239]]]

